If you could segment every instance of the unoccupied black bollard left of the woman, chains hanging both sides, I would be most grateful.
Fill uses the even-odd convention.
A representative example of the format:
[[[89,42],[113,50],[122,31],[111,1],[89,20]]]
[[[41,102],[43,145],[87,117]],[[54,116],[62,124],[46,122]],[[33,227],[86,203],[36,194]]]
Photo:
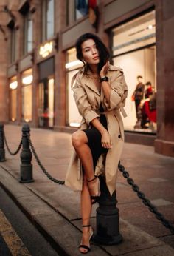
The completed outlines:
[[[21,150],[21,178],[20,183],[33,182],[32,178],[32,152],[29,149],[29,141],[27,139],[27,133],[30,129],[28,124],[24,124],[22,127],[22,150]]]

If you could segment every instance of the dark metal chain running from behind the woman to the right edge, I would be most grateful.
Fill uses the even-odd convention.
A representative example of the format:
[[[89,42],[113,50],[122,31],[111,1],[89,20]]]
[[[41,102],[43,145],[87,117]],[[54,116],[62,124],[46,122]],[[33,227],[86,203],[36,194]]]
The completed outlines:
[[[133,191],[136,192],[136,194],[138,195],[138,197],[140,199],[142,199],[142,202],[145,204],[145,206],[148,207],[148,209],[150,210],[150,212],[153,212],[154,215],[156,215],[156,218],[158,220],[161,221],[161,223],[163,223],[163,225],[167,228],[170,229],[170,232],[172,234],[174,234],[174,226],[166,219],[164,218],[164,216],[158,212],[158,210],[156,209],[156,206],[154,206],[149,199],[147,199],[145,197],[145,194],[143,194],[140,190],[139,190],[139,186],[137,186],[132,178],[129,178],[129,173],[125,170],[125,167],[122,166],[122,164],[119,164],[119,171],[122,172],[122,175],[124,178],[127,178],[127,182],[130,186],[132,186]]]

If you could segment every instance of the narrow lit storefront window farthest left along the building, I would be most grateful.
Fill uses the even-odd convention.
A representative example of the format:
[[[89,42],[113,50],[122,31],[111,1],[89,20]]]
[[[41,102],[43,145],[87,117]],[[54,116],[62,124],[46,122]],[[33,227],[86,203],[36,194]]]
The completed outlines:
[[[10,120],[15,121],[17,117],[17,87],[16,76],[10,79]]]

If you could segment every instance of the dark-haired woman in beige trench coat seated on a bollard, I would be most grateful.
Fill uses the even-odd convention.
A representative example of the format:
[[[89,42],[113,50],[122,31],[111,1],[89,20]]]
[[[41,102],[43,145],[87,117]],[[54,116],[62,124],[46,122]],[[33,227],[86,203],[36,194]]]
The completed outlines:
[[[108,64],[109,53],[100,38],[86,33],[77,39],[76,50],[84,67],[72,79],[72,90],[83,120],[72,135],[74,153],[66,185],[81,190],[83,235],[79,250],[87,253],[94,234],[90,226],[91,206],[100,197],[98,176],[103,169],[111,195],[116,187],[124,140],[120,109],[125,114],[122,107],[128,91],[122,69]]]

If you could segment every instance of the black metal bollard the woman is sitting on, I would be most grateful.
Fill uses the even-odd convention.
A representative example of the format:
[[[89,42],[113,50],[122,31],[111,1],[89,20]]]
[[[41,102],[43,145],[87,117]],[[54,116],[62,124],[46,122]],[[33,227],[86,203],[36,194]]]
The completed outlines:
[[[114,245],[122,242],[119,234],[119,209],[116,208],[116,192],[111,196],[105,183],[100,178],[101,196],[96,216],[96,233],[92,240],[94,243]]]

